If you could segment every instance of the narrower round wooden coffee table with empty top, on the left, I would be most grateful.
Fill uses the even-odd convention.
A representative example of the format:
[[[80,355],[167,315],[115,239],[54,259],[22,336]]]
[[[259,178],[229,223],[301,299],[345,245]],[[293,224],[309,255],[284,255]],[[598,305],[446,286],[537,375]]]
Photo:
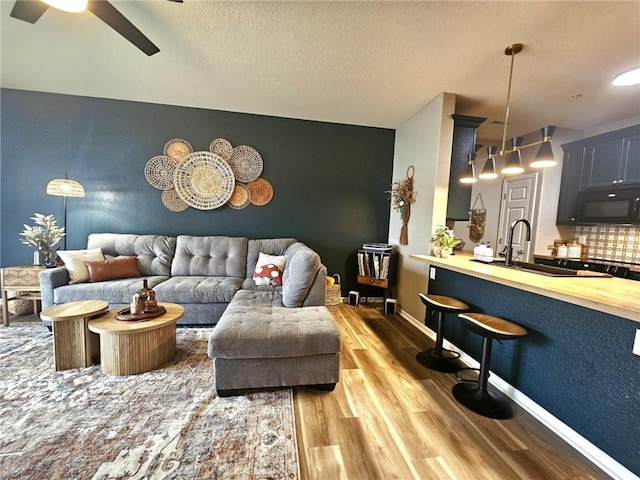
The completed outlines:
[[[93,365],[89,320],[108,309],[109,302],[105,300],[81,300],[53,305],[40,312],[40,318],[52,325],[56,371]]]

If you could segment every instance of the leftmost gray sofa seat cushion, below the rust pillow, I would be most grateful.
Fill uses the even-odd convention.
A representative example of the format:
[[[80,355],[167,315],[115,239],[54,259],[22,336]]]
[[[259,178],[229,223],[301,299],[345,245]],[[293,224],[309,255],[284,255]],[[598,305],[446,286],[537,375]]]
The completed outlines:
[[[167,280],[168,277],[145,277],[150,288]],[[135,293],[142,288],[142,278],[126,278],[106,282],[78,283],[63,285],[53,291],[53,302],[56,304],[74,302],[76,300],[106,300],[112,305],[128,305]]]

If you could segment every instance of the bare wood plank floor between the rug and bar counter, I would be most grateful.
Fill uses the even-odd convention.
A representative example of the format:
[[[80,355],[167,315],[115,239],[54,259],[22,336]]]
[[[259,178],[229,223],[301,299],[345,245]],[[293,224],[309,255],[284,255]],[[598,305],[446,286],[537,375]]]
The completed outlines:
[[[517,405],[510,420],[459,406],[455,377],[416,362],[433,342],[405,320],[376,304],[333,314],[340,383],[295,389],[302,480],[609,478]]]

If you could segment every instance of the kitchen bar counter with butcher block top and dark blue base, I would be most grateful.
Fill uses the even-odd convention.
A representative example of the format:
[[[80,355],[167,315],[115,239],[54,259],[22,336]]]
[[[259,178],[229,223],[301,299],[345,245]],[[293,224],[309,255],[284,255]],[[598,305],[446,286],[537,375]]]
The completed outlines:
[[[429,265],[428,293],[526,328],[518,341],[495,344],[492,374],[573,430],[571,443],[594,445],[590,457],[613,478],[640,479],[640,429],[630,427],[640,419],[640,356],[633,354],[640,282],[550,277],[473,262],[470,253],[410,258]],[[427,327],[435,329],[434,318],[425,318]],[[462,322],[451,318],[444,336],[480,359],[482,342]]]

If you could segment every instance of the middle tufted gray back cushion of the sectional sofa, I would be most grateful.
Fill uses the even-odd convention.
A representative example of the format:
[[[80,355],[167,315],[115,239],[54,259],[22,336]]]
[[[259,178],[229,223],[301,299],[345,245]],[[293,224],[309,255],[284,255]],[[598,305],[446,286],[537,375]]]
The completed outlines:
[[[180,235],[171,275],[246,278],[247,242],[244,237]]]

